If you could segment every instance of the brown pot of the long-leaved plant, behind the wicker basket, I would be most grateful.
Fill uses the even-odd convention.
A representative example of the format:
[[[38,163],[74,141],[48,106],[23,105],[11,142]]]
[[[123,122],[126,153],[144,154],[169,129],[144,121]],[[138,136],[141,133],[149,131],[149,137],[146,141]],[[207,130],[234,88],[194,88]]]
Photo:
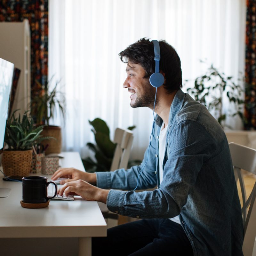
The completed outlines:
[[[44,126],[44,130],[41,133],[43,137],[53,137],[54,139],[50,140],[44,140],[42,144],[46,146],[49,144],[48,148],[45,151],[45,155],[51,154],[51,153],[60,153],[61,152],[61,147],[62,147],[62,139],[61,139],[61,128],[60,126],[54,126],[54,125],[49,125],[49,126]]]

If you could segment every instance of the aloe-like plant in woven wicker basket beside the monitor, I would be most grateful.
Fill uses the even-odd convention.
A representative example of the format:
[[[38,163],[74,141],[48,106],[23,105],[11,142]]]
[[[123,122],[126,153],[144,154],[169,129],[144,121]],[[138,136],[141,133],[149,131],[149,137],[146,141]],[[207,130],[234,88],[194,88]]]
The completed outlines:
[[[41,136],[43,126],[35,126],[31,116],[15,117],[15,112],[6,121],[4,142],[8,146],[3,151],[3,169],[6,176],[27,176],[32,160],[32,146],[48,139]]]

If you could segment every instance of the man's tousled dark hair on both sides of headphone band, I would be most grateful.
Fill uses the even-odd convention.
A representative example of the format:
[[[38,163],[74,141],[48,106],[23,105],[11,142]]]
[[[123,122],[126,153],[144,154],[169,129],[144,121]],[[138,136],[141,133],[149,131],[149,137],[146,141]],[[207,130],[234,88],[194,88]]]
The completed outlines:
[[[164,72],[164,88],[171,93],[182,87],[180,57],[165,40],[160,40],[159,46],[161,55],[159,69]],[[118,55],[124,63],[129,61],[133,64],[140,64],[146,72],[144,78],[149,78],[155,72],[154,45],[149,39],[141,38]]]

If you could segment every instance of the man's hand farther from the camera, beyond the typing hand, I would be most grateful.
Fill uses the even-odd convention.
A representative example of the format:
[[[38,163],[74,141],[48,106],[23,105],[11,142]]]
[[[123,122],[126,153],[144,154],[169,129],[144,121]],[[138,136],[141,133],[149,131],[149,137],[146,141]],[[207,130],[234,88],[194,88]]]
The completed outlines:
[[[66,180],[60,181],[61,185],[75,180],[84,180],[91,184],[96,184],[95,173],[82,172],[75,168],[60,168],[52,175],[52,180],[57,180],[59,178],[66,178]]]

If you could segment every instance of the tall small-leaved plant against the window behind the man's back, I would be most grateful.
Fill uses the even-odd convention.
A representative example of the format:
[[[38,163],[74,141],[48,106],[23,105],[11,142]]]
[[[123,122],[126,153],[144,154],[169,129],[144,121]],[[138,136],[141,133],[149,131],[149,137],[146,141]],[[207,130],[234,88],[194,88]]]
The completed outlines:
[[[232,105],[234,110],[229,109],[228,116],[238,115],[244,121],[244,91],[242,87],[234,83],[232,76],[225,76],[213,65],[207,69],[204,75],[197,77],[194,87],[188,88],[187,91],[195,97],[195,100],[205,105],[223,128],[231,128],[225,122],[227,115],[223,113],[225,98],[234,103]]]

